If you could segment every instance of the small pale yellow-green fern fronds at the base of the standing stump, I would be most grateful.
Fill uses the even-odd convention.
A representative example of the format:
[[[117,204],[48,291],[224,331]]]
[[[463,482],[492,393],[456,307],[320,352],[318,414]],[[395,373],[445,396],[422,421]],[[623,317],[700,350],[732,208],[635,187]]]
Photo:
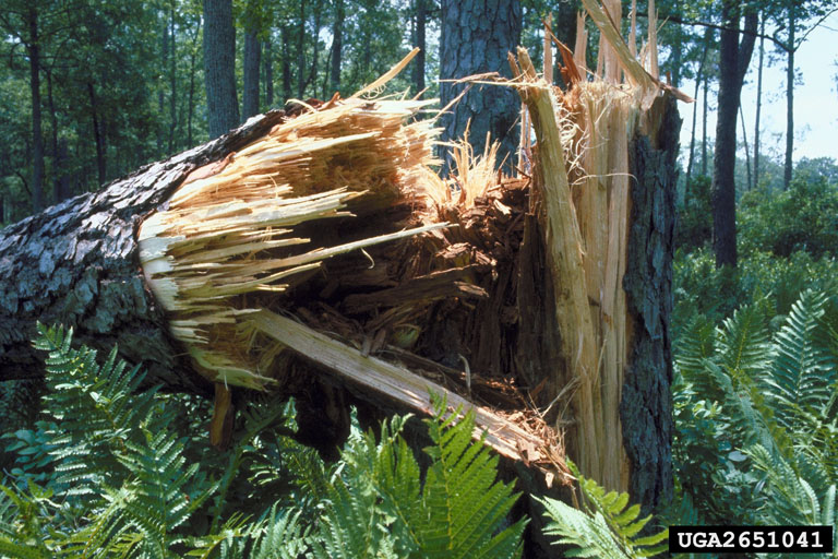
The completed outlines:
[[[654,557],[667,549],[669,530],[639,535],[651,515],[641,519],[641,506],[628,507],[628,493],[606,492],[602,486],[570,465],[578,478],[585,510],[554,499],[539,499],[550,519],[544,532],[558,536],[556,544],[573,546],[566,557],[628,559]]]

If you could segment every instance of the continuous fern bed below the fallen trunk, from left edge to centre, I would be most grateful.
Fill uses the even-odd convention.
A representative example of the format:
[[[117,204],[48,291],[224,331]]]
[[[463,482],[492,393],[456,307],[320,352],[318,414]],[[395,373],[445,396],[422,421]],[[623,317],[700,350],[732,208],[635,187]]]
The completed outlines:
[[[203,432],[183,435],[195,425],[178,408],[192,404],[141,392],[143,373],[116,349],[98,365],[72,331],[38,331],[44,419],[11,437],[19,467],[0,486],[0,557],[520,556],[526,521],[507,524],[517,495],[471,441],[474,413],[455,424],[458,412],[444,418],[436,402],[424,472],[400,435],[406,417],[378,437],[355,428],[327,467],[276,425],[289,407],[265,400],[214,462],[195,442]],[[254,521],[242,509],[259,510],[265,492]]]

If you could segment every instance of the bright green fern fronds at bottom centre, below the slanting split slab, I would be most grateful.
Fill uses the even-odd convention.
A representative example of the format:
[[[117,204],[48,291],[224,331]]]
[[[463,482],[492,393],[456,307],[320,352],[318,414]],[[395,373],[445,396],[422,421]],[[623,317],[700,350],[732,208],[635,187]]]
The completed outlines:
[[[407,418],[384,424],[380,441],[356,433],[328,486],[316,557],[511,558],[525,521],[504,527],[517,496],[495,481],[498,457],[471,441],[474,413],[427,421],[433,444],[422,485],[412,451],[399,437]]]

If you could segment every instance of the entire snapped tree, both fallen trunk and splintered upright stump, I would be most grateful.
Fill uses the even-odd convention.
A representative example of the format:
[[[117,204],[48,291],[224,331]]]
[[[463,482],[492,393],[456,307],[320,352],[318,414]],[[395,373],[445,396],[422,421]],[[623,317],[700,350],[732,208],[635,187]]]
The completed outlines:
[[[236,386],[297,397],[327,455],[349,403],[428,413],[433,392],[539,483],[568,480],[566,442],[607,487],[668,500],[679,119],[618,47],[604,71],[631,83],[583,83],[563,51],[566,95],[520,57],[532,177],[464,144],[442,181],[422,102],[335,97],[4,229],[2,379],[39,374],[34,321],[63,322],[214,392],[216,442]]]

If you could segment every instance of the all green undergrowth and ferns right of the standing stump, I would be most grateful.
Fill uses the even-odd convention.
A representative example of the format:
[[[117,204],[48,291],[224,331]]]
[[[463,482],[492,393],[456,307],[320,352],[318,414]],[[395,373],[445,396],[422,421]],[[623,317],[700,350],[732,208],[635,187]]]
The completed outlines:
[[[836,526],[838,183],[744,192],[739,265],[716,269],[706,178],[681,209],[672,386],[689,524]]]

